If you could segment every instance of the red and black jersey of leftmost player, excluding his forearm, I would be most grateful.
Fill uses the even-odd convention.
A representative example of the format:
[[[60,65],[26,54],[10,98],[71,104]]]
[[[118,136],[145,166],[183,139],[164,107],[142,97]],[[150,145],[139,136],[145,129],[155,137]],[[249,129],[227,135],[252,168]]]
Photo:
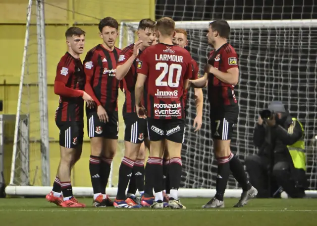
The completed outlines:
[[[61,81],[71,89],[84,90],[85,80],[84,66],[81,60],[75,59],[66,52],[57,65],[55,81]],[[59,96],[59,105],[55,113],[56,121],[82,121],[83,117],[84,100],[82,97]]]

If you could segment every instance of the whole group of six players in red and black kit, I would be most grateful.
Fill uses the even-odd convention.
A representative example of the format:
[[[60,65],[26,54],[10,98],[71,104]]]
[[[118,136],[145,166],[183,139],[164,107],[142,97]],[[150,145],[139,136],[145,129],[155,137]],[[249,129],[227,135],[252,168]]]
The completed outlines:
[[[68,52],[57,65],[54,82],[54,92],[59,95],[55,122],[60,130],[61,159],[46,199],[61,207],[85,207],[73,196],[70,175],[82,153],[86,102],[93,205],[186,209],[178,197],[178,188],[190,86],[195,88],[195,132],[202,126],[202,88],[208,86],[213,151],[218,162],[216,194],[203,208],[224,207],[230,171],[243,190],[235,207],[243,207],[254,198],[257,190],[230,151],[239,110],[234,94],[239,70],[237,54],[227,43],[228,23],[216,20],[209,25],[208,43],[214,50],[203,76],[186,50],[186,30],[175,29],[171,18],[163,17],[157,22],[142,19],[137,30],[139,40],[123,50],[115,47],[118,22],[114,18],[102,19],[99,31],[103,43],[88,51],[83,63],[80,54],[84,51],[85,32],[70,27],[65,33]],[[112,201],[106,195],[106,185],[117,149],[119,89],[125,94],[125,151],[117,195]],[[146,165],[145,147],[150,151]],[[137,190],[141,199],[135,197]]]

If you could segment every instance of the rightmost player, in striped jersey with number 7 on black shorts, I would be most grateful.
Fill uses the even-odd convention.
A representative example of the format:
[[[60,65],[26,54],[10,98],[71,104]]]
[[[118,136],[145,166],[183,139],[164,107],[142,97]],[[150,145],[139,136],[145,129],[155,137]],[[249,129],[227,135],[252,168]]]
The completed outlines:
[[[210,23],[207,38],[214,50],[211,51],[205,67],[204,77],[190,80],[194,87],[208,85],[213,151],[218,161],[216,194],[204,208],[224,206],[223,194],[230,170],[243,189],[241,199],[235,207],[245,205],[249,199],[257,195],[257,190],[247,180],[242,163],[230,151],[233,124],[237,123],[239,113],[233,89],[238,83],[239,68],[236,51],[227,43],[229,34],[230,26],[227,21],[215,20]]]

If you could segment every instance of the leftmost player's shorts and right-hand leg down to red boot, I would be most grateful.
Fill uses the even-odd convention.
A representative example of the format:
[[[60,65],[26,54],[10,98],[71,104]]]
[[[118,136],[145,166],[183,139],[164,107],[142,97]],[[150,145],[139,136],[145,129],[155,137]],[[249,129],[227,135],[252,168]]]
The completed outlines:
[[[80,158],[77,153],[82,148],[84,127],[82,123],[71,122],[60,129],[59,145],[60,145],[60,163],[58,168],[58,177],[63,193],[62,207],[85,207],[85,204],[78,203],[73,197],[73,191],[70,181],[71,168]],[[81,153],[81,150],[80,150]]]

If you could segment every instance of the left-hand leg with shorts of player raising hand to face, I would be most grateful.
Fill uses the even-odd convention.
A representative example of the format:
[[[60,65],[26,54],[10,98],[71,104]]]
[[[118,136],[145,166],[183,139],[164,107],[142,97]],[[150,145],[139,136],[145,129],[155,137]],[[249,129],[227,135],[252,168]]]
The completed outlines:
[[[144,132],[141,132],[142,121],[134,113],[124,115],[124,157],[119,167],[118,191],[114,200],[116,208],[140,208],[131,198],[126,198],[126,188],[132,176],[132,169],[144,140]]]

